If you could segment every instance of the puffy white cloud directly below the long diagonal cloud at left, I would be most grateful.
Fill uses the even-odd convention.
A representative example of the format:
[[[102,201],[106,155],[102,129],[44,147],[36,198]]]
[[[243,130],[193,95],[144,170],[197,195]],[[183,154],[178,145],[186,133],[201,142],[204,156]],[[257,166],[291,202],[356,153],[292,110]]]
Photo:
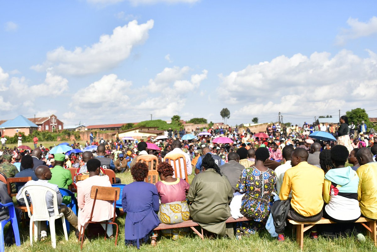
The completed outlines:
[[[93,113],[97,109],[125,109],[129,101],[126,93],[131,85],[130,81],[118,79],[116,74],[104,75],[100,80],[76,92],[71,106],[75,106],[78,111],[91,109]]]

